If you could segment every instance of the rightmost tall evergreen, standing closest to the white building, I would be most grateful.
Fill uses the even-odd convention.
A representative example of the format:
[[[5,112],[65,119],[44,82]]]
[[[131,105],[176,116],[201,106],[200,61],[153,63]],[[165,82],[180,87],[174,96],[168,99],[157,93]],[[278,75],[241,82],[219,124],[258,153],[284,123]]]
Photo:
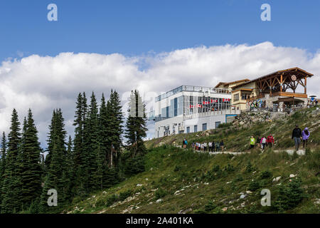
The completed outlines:
[[[127,174],[134,174],[144,171],[144,154],[146,153],[143,140],[147,130],[145,105],[138,90],[132,91],[128,112],[126,137],[129,153],[124,155],[124,170]]]

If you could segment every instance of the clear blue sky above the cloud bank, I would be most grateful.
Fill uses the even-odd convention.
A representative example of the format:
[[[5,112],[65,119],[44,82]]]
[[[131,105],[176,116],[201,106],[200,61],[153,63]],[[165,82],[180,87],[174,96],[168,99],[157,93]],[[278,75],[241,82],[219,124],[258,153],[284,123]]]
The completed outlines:
[[[58,21],[47,6],[58,6]],[[270,4],[272,21],[261,21]],[[320,1],[1,0],[0,61],[60,52],[160,53],[225,43],[271,41],[319,49]]]

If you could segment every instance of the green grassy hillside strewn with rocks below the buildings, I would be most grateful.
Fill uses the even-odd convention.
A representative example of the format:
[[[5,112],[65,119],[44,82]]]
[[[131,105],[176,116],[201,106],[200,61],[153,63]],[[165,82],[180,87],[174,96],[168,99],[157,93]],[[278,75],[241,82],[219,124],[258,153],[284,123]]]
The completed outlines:
[[[65,213],[319,213],[319,112],[302,110],[282,120],[228,126],[208,133],[176,135],[146,142],[146,171],[88,199],[75,199]],[[228,150],[247,150],[252,132],[272,132],[277,150],[293,147],[292,128],[311,128],[303,156],[258,149],[242,155],[208,155],[182,150],[175,141],[225,140]],[[165,143],[164,143],[165,142]],[[162,144],[162,145],[161,145]],[[290,177],[291,175],[291,177]],[[278,177],[277,180],[274,180]],[[280,178],[279,178],[280,177]],[[262,207],[262,189],[271,207]]]

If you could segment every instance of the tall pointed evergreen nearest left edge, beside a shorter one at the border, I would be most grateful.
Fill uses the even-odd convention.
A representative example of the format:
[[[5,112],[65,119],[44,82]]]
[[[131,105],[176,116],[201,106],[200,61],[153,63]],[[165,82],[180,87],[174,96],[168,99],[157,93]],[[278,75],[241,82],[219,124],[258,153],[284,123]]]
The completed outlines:
[[[16,171],[18,164],[19,144],[21,140],[20,123],[16,109],[11,115],[11,127],[8,135],[8,152],[6,155],[6,170],[4,172],[4,182],[2,186],[3,199],[1,202],[1,213],[14,213],[21,210],[20,199],[21,189],[19,188]]]

